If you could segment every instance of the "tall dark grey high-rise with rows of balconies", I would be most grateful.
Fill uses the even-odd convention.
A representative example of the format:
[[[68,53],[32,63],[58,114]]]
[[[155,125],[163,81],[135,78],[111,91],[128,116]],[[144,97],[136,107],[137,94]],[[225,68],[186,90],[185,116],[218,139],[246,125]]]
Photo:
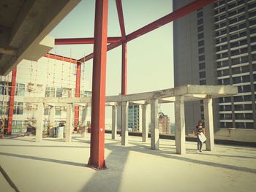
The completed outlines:
[[[173,0],[176,10],[192,0]],[[256,128],[256,1],[216,1],[173,23],[174,84],[237,85],[214,100],[214,128]],[[185,104],[191,131],[203,101]]]

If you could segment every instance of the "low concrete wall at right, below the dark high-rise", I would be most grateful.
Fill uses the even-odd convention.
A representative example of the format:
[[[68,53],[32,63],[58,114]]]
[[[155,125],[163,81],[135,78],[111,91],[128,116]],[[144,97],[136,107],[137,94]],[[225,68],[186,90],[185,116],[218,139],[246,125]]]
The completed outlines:
[[[249,128],[221,128],[214,134],[214,139],[238,142],[256,142],[256,129]]]

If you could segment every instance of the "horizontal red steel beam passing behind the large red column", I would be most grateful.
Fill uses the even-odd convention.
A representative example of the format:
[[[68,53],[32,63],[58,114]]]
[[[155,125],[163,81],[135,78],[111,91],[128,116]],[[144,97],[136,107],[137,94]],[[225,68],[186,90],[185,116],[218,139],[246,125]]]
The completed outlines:
[[[108,43],[119,42],[121,37],[108,37]],[[63,38],[55,39],[55,45],[77,45],[77,44],[94,44],[94,38]]]

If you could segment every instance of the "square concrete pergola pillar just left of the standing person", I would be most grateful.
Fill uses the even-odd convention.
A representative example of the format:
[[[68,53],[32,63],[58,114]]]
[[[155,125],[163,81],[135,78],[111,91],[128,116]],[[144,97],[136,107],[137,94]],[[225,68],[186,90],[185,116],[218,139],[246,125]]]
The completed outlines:
[[[175,102],[175,139],[176,153],[186,153],[186,133],[185,133],[185,115],[184,115],[184,96],[176,96]]]

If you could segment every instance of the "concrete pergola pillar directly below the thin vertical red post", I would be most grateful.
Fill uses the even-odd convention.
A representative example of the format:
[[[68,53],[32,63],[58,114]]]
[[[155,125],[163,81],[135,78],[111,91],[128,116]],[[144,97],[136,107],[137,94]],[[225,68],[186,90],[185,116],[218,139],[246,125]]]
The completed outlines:
[[[128,106],[129,102],[123,101],[121,106],[121,145],[128,144]]]

